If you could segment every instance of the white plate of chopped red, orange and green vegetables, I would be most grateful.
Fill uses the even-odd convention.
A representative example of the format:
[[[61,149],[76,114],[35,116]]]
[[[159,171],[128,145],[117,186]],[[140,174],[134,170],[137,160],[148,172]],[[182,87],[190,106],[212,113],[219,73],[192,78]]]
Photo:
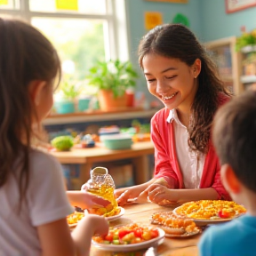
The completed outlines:
[[[164,230],[136,223],[109,228],[107,236],[92,236],[92,245],[104,251],[129,252],[164,242]]]

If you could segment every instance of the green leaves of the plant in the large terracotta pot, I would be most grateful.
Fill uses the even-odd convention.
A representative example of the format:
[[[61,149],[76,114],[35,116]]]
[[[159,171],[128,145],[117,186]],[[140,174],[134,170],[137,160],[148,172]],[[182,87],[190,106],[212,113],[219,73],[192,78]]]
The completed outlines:
[[[115,98],[124,95],[128,88],[135,87],[137,77],[132,63],[120,60],[97,61],[86,76],[89,84],[99,90],[111,90]]]

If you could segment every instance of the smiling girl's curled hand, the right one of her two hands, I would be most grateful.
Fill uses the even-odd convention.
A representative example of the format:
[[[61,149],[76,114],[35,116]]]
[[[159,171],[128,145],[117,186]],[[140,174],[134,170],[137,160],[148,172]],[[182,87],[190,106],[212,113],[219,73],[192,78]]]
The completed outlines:
[[[168,202],[168,204],[177,203],[175,198],[175,190],[166,188],[163,185],[154,183],[145,189],[140,196],[148,196],[148,199],[155,204],[163,204],[163,202]]]

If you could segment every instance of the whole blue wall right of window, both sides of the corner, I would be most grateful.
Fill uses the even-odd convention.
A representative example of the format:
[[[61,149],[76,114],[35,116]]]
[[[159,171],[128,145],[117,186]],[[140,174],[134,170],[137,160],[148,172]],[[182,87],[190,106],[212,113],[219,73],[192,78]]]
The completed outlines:
[[[174,16],[180,12],[188,17],[191,30],[201,42],[228,36],[240,36],[242,26],[245,26],[248,31],[256,28],[256,7],[226,13],[225,0],[188,0],[188,4],[126,0],[125,4],[131,38],[129,42],[131,60],[138,69],[137,47],[141,36],[147,32],[144,27],[144,12],[162,12],[164,23],[172,22]],[[149,101],[154,99],[148,93],[142,74],[138,81],[137,91],[145,92]]]

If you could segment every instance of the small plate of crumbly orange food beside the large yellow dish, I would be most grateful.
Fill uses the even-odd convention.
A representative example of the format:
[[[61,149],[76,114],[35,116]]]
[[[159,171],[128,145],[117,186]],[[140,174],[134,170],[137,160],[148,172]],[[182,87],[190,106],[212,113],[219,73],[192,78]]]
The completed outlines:
[[[163,229],[166,237],[189,237],[201,233],[201,228],[196,226],[195,221],[179,217],[172,211],[153,213],[151,224]]]

